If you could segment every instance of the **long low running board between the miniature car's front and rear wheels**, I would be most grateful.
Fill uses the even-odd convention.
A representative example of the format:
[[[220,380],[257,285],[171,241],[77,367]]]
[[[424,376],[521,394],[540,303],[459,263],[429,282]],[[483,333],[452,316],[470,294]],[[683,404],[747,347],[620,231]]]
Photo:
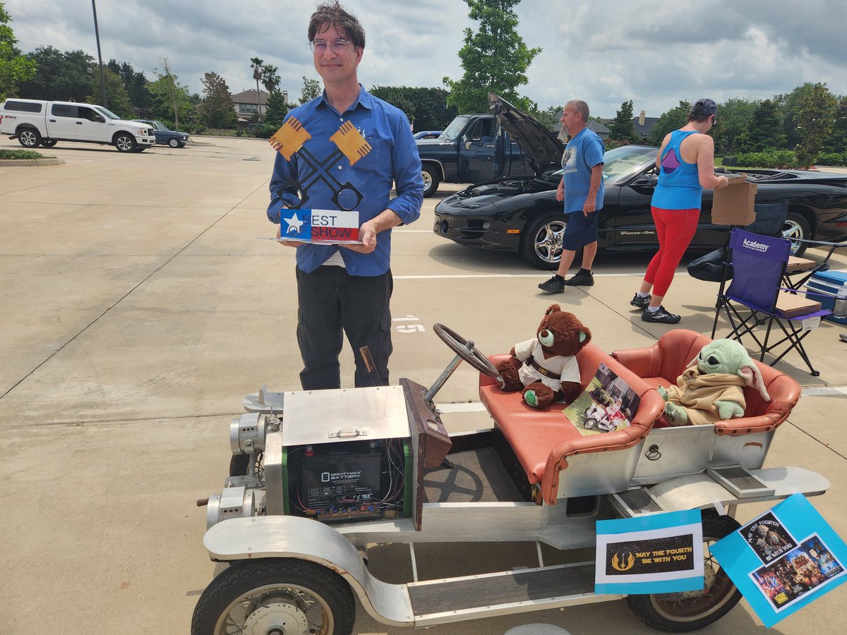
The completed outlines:
[[[595,595],[594,562],[407,585],[415,627],[620,599]]]

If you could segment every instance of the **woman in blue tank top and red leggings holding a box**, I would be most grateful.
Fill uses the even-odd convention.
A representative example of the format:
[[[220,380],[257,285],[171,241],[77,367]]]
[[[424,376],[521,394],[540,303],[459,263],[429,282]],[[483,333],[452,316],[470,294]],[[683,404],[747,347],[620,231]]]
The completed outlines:
[[[703,188],[717,190],[728,185],[727,177],[715,176],[715,142],[706,134],[716,121],[717,103],[697,100],[689,111],[688,124],[666,135],[656,155],[659,182],[650,213],[656,223],[659,251],[650,260],[641,288],[629,301],[644,309],[641,319],[645,322],[679,322],[678,315],[662,306],[662,299],[697,230]]]

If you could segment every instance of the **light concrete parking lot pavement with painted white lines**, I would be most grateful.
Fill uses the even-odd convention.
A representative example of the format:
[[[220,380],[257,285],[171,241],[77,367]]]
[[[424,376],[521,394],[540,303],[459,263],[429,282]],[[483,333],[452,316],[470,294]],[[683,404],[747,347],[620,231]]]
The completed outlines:
[[[264,216],[273,151],[253,139],[202,142],[129,155],[59,144],[47,153],[64,165],[0,166],[4,632],[47,632],[57,616],[67,633],[187,632],[216,571],[202,548],[204,510],[194,501],[223,483],[230,418],[262,384],[299,385],[293,250],[257,240],[275,230]],[[3,139],[0,147],[16,146]],[[606,351],[648,345],[667,330],[642,323],[627,304],[649,255],[601,254],[594,287],[543,295],[535,285],[549,273],[434,235],[438,200],[425,200],[418,223],[392,237],[393,382],[430,384],[449,362],[436,322],[486,353],[529,337],[554,301]],[[845,258],[834,268],[847,268]],[[680,326],[711,331],[716,289],[679,275],[668,297],[684,316]],[[779,366],[822,394],[801,400],[767,464],[829,478],[833,489],[813,502],[847,535],[843,330],[823,323],[805,340],[820,378],[793,355]],[[342,365],[342,381],[352,385],[348,350]],[[467,365],[438,401],[451,429],[489,425]],[[405,572],[407,553],[380,549],[384,562],[372,556],[373,566]],[[524,557],[514,545],[495,552],[498,566]],[[469,568],[476,553],[447,549],[431,560]],[[839,630],[843,600],[839,589],[778,628]],[[739,606],[705,632],[761,631],[749,607]],[[598,623],[608,632],[649,631],[623,602],[432,631],[505,632],[529,621],[573,633],[596,632]],[[360,607],[356,632],[408,631],[379,625]]]

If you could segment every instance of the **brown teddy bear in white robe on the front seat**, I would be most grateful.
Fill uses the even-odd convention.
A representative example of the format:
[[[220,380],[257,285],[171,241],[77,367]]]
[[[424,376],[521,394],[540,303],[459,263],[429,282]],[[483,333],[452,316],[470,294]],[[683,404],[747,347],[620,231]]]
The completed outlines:
[[[556,399],[571,402],[582,392],[576,354],[591,341],[591,331],[573,313],[554,304],[544,314],[538,335],[512,347],[512,357],[499,362],[500,387],[523,389],[523,400],[535,408]]]

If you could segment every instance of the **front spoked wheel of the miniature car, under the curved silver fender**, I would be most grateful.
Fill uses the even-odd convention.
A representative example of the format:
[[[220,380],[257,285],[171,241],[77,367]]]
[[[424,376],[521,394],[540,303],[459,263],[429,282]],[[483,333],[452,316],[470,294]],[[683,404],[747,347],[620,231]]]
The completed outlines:
[[[241,560],[203,591],[191,635],[349,635],[356,605],[344,579],[287,558]]]

